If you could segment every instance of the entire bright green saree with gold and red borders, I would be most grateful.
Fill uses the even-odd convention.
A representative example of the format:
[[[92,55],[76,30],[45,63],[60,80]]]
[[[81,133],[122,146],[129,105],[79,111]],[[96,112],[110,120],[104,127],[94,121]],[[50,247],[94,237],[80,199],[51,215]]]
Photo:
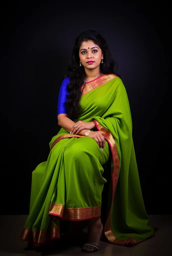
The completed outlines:
[[[80,114],[74,122],[94,121],[106,139],[104,150],[90,137],[60,129],[50,142],[47,162],[33,171],[30,212],[20,239],[40,246],[60,237],[60,219],[100,217],[106,182],[102,165],[111,158],[103,231],[111,243],[138,244],[154,236],[154,228],[148,223],[143,202],[125,87],[115,74],[107,74],[81,90]]]

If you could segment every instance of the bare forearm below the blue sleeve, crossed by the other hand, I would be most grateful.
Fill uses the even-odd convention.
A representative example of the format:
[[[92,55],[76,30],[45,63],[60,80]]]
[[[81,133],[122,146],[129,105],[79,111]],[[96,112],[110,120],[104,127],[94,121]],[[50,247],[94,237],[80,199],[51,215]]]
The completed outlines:
[[[72,126],[75,124],[75,122],[73,122],[70,118],[68,118],[68,114],[59,114],[57,116],[57,119],[58,119],[58,125],[61,126],[63,129],[65,129],[67,132],[70,132]],[[80,131],[78,134],[84,136],[88,130],[89,129],[84,129]]]

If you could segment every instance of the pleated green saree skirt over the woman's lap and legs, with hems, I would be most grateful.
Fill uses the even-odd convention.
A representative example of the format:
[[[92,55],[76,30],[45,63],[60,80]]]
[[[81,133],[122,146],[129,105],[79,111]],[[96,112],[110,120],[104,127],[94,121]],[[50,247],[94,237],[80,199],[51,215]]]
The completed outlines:
[[[21,239],[39,246],[60,237],[59,217],[100,217],[101,193],[106,182],[102,165],[109,156],[108,143],[101,151],[90,137],[64,138],[54,144],[47,162],[39,164],[32,173],[30,212]]]

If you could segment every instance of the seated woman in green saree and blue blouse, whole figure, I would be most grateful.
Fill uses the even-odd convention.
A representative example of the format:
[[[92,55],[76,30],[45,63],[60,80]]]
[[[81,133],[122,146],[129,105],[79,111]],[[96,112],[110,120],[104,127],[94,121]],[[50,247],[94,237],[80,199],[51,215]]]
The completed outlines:
[[[77,37],[59,92],[62,128],[50,142],[47,162],[33,171],[30,213],[20,239],[40,246],[59,238],[61,219],[88,220],[83,252],[99,250],[102,230],[107,240],[122,246],[154,236],[139,183],[127,93],[114,65],[99,33]],[[112,179],[103,228],[102,165],[109,160]]]

